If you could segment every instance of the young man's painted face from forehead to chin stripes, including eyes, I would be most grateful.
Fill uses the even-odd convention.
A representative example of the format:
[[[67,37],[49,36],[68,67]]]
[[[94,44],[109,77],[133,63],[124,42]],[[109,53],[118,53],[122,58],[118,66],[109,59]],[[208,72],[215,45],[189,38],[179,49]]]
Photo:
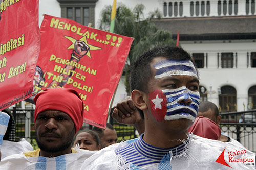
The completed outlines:
[[[156,61],[156,60],[155,60]],[[154,63],[154,61],[153,61]],[[200,94],[197,71],[189,60],[159,58],[153,65],[155,76],[150,82],[152,115],[162,120],[186,118],[195,121]]]

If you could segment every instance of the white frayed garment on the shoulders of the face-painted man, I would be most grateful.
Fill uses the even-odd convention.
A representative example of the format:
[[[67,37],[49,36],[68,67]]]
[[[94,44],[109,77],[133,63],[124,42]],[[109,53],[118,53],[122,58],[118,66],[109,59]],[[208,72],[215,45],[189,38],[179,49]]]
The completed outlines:
[[[138,139],[137,139],[138,140]],[[131,141],[125,141],[106,147],[84,161],[81,169],[255,169],[255,153],[240,148],[232,143],[224,143],[217,140],[202,138],[196,135],[189,135],[189,142],[186,149],[179,155],[166,155],[160,163],[143,167],[127,162],[124,155],[116,154],[115,151],[127,147]],[[132,141],[133,142],[133,141]],[[224,151],[225,149],[225,151]],[[222,160],[227,165],[217,163],[216,160],[223,153]],[[241,154],[238,154],[241,153]],[[237,155],[236,155],[237,154]],[[231,160],[230,160],[231,159]],[[234,162],[234,159],[243,162]],[[247,164],[246,164],[247,163]],[[249,165],[248,163],[252,163]]]

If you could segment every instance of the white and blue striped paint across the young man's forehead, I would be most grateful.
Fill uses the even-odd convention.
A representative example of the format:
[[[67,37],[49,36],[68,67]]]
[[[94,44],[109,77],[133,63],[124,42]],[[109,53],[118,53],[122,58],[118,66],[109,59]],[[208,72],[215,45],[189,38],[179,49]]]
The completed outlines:
[[[197,70],[190,60],[163,60],[153,65],[155,67],[155,79],[173,75],[187,75],[197,77]]]

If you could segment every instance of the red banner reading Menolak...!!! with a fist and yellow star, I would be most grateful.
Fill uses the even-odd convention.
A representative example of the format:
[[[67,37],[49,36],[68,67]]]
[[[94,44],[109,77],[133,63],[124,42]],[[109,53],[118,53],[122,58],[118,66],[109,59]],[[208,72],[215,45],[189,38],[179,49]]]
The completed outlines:
[[[42,21],[40,35],[35,93],[45,88],[73,88],[83,99],[84,122],[105,128],[133,38],[49,15]]]

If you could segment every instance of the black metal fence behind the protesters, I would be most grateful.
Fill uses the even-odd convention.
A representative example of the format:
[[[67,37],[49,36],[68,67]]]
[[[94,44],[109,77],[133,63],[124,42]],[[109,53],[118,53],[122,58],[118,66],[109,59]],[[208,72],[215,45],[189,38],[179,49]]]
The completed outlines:
[[[16,119],[16,136],[27,139],[36,149],[34,110],[14,107],[11,111]],[[256,152],[256,110],[221,113],[220,115],[222,116],[220,123],[222,132],[239,141],[246,149]],[[133,126],[119,124],[112,117],[110,117],[110,124],[117,132],[118,142],[138,137]]]

